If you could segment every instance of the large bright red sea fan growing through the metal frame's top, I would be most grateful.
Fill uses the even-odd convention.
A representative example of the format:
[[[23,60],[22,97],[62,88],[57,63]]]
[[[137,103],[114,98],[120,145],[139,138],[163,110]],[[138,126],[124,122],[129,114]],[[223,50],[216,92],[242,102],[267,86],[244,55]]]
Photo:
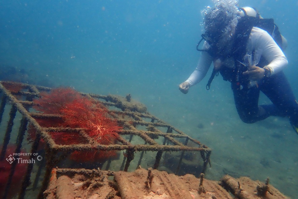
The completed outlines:
[[[40,95],[41,98],[33,101],[33,108],[44,114],[61,115],[62,122],[54,124],[54,126],[84,128],[86,133],[98,144],[109,145],[117,142],[118,132],[122,127],[118,126],[117,121],[108,114],[107,107],[99,101],[83,97],[69,87],[53,89],[49,93],[43,92]],[[52,121],[49,122],[50,124],[44,124],[44,122],[46,123],[44,120],[38,121],[44,127],[53,125]],[[51,136],[56,144],[85,144],[82,137],[69,133],[63,135],[57,133],[51,134]],[[115,151],[73,152],[71,158],[77,161],[94,161],[115,155]]]

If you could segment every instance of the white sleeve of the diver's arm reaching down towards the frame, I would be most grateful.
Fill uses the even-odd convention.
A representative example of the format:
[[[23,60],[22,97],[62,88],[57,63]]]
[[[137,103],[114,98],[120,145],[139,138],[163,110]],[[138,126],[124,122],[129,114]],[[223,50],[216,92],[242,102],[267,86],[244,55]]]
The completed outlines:
[[[204,46],[206,45],[204,44]],[[185,82],[188,82],[190,87],[198,84],[205,77],[212,61],[213,58],[207,52],[202,51],[197,67]]]

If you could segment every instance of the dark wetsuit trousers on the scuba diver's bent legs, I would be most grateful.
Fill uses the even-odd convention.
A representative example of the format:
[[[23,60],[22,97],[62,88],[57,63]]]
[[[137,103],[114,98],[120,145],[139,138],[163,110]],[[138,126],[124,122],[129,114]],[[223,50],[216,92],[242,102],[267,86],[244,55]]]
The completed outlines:
[[[235,105],[241,120],[245,123],[254,123],[269,116],[288,117],[291,124],[298,125],[298,104],[283,72],[271,77],[264,77],[258,84],[248,88],[232,82]],[[260,91],[273,104],[258,106]]]

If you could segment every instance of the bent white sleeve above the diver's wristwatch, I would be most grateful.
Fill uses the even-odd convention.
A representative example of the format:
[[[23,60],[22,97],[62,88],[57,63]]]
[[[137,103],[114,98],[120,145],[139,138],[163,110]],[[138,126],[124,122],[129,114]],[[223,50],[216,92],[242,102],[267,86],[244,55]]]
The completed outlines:
[[[252,37],[254,46],[261,48],[262,55],[269,62],[265,67],[270,70],[271,75],[282,71],[288,65],[285,54],[266,31],[253,27]]]

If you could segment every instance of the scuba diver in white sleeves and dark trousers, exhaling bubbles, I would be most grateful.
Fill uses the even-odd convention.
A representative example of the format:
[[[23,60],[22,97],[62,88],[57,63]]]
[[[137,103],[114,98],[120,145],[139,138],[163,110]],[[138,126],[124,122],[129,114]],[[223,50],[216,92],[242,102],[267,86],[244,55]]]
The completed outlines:
[[[201,57],[190,77],[179,85],[186,94],[206,75],[211,63],[215,75],[231,82],[238,115],[245,123],[269,116],[288,117],[298,133],[298,104],[283,73],[288,60],[282,48],[287,41],[273,19],[260,17],[251,7],[236,7],[236,2],[217,1],[204,13],[204,34],[197,45]],[[199,49],[201,41],[203,46]],[[260,91],[272,104],[258,105]]]

